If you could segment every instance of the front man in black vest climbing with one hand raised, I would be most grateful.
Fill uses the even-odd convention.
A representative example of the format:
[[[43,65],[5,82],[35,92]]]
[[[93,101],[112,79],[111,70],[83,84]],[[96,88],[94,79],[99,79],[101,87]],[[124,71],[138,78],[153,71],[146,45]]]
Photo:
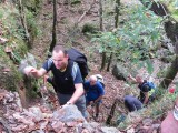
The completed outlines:
[[[83,81],[78,64],[69,60],[67,50],[61,45],[56,45],[52,57],[48,59],[39,70],[32,68],[27,72],[34,78],[43,76],[49,71],[53,74],[56,92],[60,105],[76,104],[82,115],[87,117]]]

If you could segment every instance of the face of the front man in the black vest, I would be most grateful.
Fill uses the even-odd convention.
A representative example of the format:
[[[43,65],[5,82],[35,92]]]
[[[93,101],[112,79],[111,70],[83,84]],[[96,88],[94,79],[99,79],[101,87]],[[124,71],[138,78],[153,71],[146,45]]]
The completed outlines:
[[[59,52],[52,52],[52,60],[55,63],[55,66],[57,69],[66,69],[67,63],[68,63],[68,55],[66,55],[62,51]]]

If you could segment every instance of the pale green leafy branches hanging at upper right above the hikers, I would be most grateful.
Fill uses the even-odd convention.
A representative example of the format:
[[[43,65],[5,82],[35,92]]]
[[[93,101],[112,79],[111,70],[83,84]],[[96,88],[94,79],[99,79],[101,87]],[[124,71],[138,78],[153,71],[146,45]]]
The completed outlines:
[[[102,32],[92,39],[99,43],[95,48],[100,52],[112,52],[123,62],[138,63],[140,60],[146,60],[147,68],[151,72],[152,65],[148,62],[149,52],[160,39],[161,19],[141,6],[130,8],[126,13],[127,18],[122,25],[113,32]]]

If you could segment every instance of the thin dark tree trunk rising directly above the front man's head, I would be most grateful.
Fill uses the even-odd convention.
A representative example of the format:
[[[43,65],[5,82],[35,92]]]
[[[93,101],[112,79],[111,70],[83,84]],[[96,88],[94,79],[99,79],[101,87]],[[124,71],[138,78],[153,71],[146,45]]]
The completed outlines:
[[[50,49],[49,49],[50,52],[52,52],[52,50],[57,43],[56,27],[57,27],[57,1],[53,0],[53,25],[52,25],[52,42],[51,42]]]

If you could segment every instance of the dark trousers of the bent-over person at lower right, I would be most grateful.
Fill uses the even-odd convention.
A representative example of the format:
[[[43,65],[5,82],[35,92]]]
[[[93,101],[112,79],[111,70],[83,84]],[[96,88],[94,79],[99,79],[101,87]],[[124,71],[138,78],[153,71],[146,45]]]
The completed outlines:
[[[125,96],[125,105],[130,112],[140,110],[142,108],[142,103],[132,95]]]

